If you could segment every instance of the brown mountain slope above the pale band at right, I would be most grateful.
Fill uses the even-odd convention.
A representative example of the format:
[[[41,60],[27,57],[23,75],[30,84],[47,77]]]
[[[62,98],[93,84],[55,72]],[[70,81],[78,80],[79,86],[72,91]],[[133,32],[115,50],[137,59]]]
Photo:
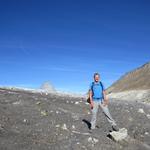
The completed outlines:
[[[108,93],[150,89],[150,62],[126,73],[108,89]]]

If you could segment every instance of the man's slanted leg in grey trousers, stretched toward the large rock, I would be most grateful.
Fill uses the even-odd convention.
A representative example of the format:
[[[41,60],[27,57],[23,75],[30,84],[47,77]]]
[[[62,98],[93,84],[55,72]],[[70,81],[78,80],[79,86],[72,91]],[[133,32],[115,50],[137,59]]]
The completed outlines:
[[[108,106],[103,106],[103,104],[100,104],[100,107],[102,108],[107,120],[109,121],[109,123],[112,125],[112,126],[116,126],[116,122],[114,121],[114,119],[112,118],[110,112],[109,112],[109,109],[108,109]]]

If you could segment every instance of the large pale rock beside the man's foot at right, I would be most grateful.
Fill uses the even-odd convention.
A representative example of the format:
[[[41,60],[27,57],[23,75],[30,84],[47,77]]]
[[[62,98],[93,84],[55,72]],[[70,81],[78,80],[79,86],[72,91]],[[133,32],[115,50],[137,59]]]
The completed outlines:
[[[128,136],[127,129],[125,128],[119,129],[119,131],[110,132],[109,134],[116,142],[122,141]]]

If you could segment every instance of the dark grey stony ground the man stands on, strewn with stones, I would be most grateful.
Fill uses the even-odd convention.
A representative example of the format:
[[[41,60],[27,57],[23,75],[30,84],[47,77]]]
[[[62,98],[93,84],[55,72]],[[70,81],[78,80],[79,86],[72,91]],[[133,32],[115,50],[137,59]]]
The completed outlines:
[[[128,137],[113,141],[99,112],[89,130],[91,112],[84,97],[0,88],[0,150],[148,150],[150,106],[110,99],[110,112]]]

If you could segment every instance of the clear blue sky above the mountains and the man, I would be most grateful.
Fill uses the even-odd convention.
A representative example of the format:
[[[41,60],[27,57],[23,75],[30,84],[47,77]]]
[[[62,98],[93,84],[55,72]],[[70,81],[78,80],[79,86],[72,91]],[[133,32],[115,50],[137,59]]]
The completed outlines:
[[[149,0],[0,1],[0,85],[86,92],[148,61]]]

